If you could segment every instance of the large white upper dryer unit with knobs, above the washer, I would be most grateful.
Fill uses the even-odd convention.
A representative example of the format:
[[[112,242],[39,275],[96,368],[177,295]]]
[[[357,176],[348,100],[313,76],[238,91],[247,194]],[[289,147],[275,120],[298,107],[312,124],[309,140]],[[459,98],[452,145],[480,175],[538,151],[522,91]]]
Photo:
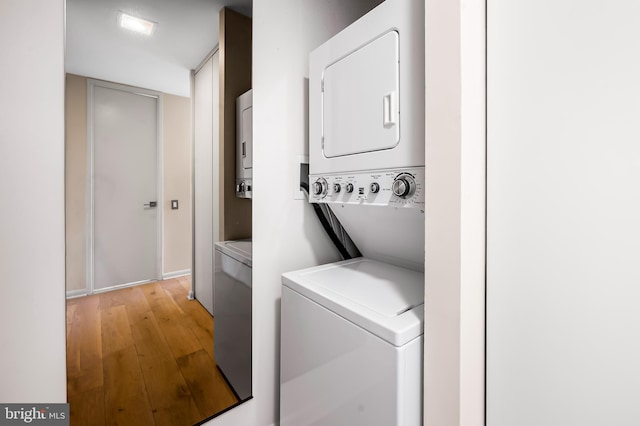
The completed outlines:
[[[386,0],[309,55],[309,201],[368,258],[424,270],[424,1]]]

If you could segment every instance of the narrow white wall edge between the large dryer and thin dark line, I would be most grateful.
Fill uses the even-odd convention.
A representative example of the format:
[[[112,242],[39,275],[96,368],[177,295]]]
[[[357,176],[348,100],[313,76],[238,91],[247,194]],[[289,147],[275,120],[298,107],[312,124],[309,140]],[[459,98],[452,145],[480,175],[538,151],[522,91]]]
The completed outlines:
[[[426,2],[425,426],[484,424],[484,10]]]

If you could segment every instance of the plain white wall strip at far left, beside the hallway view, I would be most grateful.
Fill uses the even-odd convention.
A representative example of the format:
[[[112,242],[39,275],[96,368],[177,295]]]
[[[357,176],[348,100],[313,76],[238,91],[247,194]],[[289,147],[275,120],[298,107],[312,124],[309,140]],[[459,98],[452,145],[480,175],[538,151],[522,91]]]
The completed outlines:
[[[65,402],[64,2],[0,13],[0,401]]]

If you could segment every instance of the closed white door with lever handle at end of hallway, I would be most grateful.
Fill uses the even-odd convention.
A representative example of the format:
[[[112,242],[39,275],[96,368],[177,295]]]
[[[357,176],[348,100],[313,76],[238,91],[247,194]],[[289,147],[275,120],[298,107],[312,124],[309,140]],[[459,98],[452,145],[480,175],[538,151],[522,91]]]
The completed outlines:
[[[89,107],[93,159],[90,291],[158,279],[159,97],[90,81]]]

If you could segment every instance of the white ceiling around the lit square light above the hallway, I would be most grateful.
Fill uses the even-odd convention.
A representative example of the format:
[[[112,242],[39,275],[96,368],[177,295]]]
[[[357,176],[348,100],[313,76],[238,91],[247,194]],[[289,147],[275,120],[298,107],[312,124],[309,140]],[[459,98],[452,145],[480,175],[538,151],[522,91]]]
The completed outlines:
[[[252,0],[66,0],[65,70],[86,77],[189,96],[190,72],[218,44],[224,6],[251,16]],[[118,11],[157,22],[136,35]]]

